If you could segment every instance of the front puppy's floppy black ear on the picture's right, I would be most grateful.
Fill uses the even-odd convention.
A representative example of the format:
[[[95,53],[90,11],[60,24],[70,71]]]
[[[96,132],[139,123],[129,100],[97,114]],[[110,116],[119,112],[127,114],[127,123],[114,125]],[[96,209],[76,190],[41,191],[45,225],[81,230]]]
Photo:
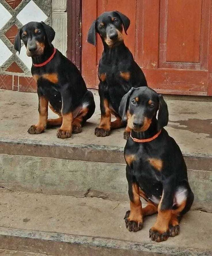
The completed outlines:
[[[166,126],[169,121],[169,111],[167,103],[164,101],[161,94],[159,97],[159,111],[158,111],[158,122],[157,122],[157,130],[160,131],[162,127]]]

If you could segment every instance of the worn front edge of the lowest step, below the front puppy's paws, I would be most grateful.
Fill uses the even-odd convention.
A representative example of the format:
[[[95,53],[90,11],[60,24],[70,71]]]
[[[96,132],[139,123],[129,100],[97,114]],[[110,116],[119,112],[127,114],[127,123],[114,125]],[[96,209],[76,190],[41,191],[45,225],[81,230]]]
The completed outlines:
[[[136,251],[145,251],[145,252],[154,252],[154,253],[163,253],[163,254],[174,254],[174,255],[211,255],[210,250],[208,249],[198,249],[192,247],[177,247],[177,246],[166,246],[164,244],[158,243],[145,243],[145,242],[132,242],[127,240],[119,239],[110,239],[102,237],[92,237],[92,236],[80,236],[77,234],[67,234],[59,232],[50,232],[50,231],[38,231],[38,230],[28,230],[28,229],[19,229],[19,228],[6,228],[0,226],[0,247],[1,237],[16,237],[22,239],[37,239],[40,241],[49,241],[49,242],[60,242],[68,243],[73,245],[87,245],[87,246],[96,246],[96,247],[107,247],[112,249],[124,249],[124,250],[136,250]],[[19,248],[20,244],[18,245]],[[5,248],[6,249],[6,248]]]

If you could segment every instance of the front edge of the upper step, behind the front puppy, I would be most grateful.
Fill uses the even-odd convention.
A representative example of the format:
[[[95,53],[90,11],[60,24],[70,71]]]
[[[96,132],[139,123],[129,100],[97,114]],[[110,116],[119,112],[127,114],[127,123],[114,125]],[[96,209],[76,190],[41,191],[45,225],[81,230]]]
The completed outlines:
[[[38,148],[39,147],[39,148]],[[33,150],[36,149],[36,150]],[[39,150],[38,150],[39,149]],[[49,150],[47,150],[49,149]],[[58,149],[60,149],[58,151]],[[0,138],[0,154],[52,157],[70,160],[83,160],[125,164],[123,148],[96,144],[48,143],[32,140],[10,140]],[[72,154],[75,151],[75,154]],[[97,154],[98,153],[98,154]],[[106,154],[112,153],[112,154]],[[212,156],[183,154],[188,169],[212,171]],[[201,161],[197,168],[193,161]],[[202,161],[207,163],[202,166]],[[188,164],[189,163],[189,164]],[[206,166],[206,168],[205,168]]]

